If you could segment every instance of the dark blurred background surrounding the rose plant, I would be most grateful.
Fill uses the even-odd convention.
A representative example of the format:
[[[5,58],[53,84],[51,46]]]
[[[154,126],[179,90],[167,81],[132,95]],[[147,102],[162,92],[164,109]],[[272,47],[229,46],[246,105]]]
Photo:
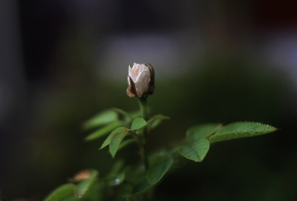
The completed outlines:
[[[200,123],[281,128],[212,144],[158,186],[157,200],[296,200],[292,2],[0,1],[1,199],[41,200],[79,170],[104,174],[112,159],[80,125],[106,108],[138,109],[128,64],[149,62],[151,113],[171,118],[150,151]]]

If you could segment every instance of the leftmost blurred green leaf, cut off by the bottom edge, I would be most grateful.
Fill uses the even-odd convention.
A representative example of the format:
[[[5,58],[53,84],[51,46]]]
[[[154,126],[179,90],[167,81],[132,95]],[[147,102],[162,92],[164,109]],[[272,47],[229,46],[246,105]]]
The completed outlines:
[[[60,201],[67,198],[69,195],[73,193],[75,189],[74,184],[64,184],[59,186],[53,192],[51,192],[48,197],[44,199],[44,201]]]

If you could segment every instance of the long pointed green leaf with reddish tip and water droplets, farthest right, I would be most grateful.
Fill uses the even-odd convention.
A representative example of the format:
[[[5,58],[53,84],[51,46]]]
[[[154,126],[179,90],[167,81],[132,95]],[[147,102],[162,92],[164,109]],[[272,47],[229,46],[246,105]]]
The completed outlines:
[[[210,142],[231,140],[236,138],[252,137],[263,135],[278,130],[275,127],[255,123],[255,122],[236,122],[220,128],[209,138]]]

